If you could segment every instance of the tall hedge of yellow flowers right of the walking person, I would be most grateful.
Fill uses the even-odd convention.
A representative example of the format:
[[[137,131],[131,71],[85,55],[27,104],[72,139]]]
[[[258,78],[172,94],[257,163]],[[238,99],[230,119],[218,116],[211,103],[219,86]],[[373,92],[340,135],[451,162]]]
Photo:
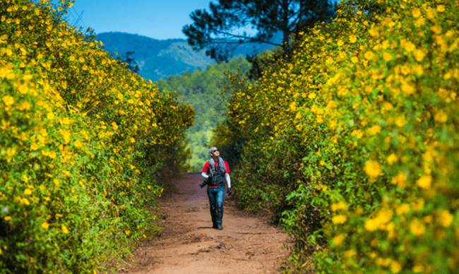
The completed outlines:
[[[239,199],[296,237],[295,271],[458,273],[459,4],[339,7],[260,81],[227,73]]]

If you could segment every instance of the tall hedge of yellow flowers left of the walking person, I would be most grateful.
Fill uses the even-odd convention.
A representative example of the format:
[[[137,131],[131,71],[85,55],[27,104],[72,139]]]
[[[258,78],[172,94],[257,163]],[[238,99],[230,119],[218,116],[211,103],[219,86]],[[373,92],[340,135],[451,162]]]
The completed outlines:
[[[0,273],[116,266],[189,156],[193,109],[69,27],[71,4],[0,1]]]

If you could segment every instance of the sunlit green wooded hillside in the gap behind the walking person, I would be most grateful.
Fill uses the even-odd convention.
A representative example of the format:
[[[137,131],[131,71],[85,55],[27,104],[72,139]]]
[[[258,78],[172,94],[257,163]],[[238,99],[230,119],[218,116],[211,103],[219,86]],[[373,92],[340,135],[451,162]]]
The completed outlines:
[[[234,71],[238,67],[245,72],[249,69],[249,63],[239,56],[228,63],[213,64],[202,71],[187,71],[181,76],[169,76],[166,80],[160,79],[157,82],[157,88],[160,90],[177,90],[181,99],[194,108],[194,124],[186,130],[192,155],[189,166],[193,172],[201,170],[204,163],[209,160],[212,130],[222,120],[221,113],[226,112],[225,95],[218,94],[217,80],[223,76],[223,71]],[[222,149],[222,157],[225,156],[224,151]],[[227,160],[226,157],[224,159]],[[228,163],[231,167],[232,163]]]

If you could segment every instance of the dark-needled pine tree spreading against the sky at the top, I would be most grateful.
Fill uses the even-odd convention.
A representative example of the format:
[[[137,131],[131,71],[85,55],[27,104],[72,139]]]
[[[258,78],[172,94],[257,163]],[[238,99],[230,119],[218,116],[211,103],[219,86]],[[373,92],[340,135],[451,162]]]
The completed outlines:
[[[194,21],[182,32],[188,37],[193,50],[206,49],[205,54],[216,61],[228,61],[230,53],[239,44],[266,43],[280,46],[283,55],[289,50],[289,37],[296,40],[299,32],[317,22],[329,20],[334,4],[329,0],[219,0],[210,2],[211,13],[193,11]],[[234,34],[234,30],[251,26],[256,35]],[[282,32],[282,43],[272,41],[276,32]]]

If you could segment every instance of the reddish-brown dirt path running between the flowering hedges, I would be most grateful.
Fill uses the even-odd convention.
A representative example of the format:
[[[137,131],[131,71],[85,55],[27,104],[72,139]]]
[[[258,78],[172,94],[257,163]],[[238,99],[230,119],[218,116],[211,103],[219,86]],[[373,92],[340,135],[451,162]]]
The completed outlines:
[[[206,188],[198,186],[202,181],[200,174],[187,173],[173,180],[174,189],[160,201],[161,237],[138,247],[129,273],[281,273],[287,234],[237,210],[226,194],[223,230],[214,230]]]

